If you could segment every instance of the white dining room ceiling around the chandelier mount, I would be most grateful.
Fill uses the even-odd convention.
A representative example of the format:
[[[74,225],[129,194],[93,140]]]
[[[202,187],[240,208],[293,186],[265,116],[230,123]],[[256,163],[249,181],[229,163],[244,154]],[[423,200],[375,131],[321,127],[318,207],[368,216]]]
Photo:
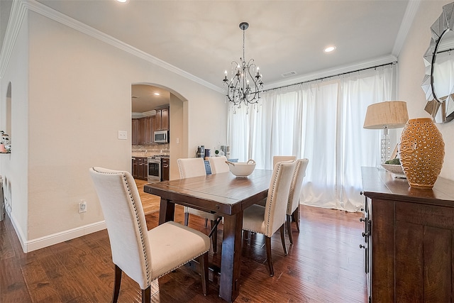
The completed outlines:
[[[397,57],[408,0],[158,1],[38,0],[212,86],[242,57],[265,89],[305,75]],[[401,32],[399,32],[399,30]],[[323,53],[336,45],[333,53]],[[282,75],[294,72],[292,77]]]

